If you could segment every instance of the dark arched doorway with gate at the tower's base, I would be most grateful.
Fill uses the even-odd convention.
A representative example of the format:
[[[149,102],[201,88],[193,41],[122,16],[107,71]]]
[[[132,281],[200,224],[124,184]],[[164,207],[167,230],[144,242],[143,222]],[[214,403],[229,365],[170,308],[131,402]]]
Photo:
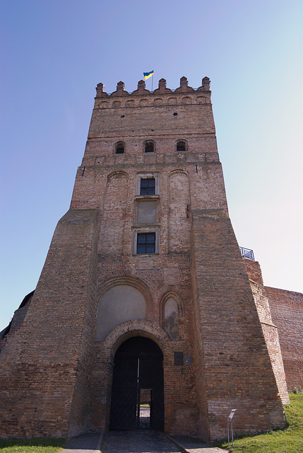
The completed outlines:
[[[124,341],[114,356],[111,430],[164,430],[163,355],[150,338]]]

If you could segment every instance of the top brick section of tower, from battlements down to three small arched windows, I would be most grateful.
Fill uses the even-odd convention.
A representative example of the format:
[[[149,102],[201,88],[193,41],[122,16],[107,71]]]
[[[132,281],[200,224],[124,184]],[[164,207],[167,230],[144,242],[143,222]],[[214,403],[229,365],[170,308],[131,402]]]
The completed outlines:
[[[141,159],[147,140],[153,141],[155,152],[151,154],[157,159],[174,153],[177,141],[182,139],[189,154],[198,152],[204,154],[203,160],[218,160],[210,91],[206,87],[209,88],[209,79],[196,91],[182,81],[181,91],[166,88],[130,94],[119,82],[112,95],[100,92],[95,98],[83,166],[97,163],[92,161],[94,157],[114,154],[118,141],[124,143],[124,155],[115,160],[124,165],[130,155]],[[214,153],[216,156],[210,156]],[[145,156],[147,164],[153,156]],[[184,159],[184,152],[178,153],[178,159]]]

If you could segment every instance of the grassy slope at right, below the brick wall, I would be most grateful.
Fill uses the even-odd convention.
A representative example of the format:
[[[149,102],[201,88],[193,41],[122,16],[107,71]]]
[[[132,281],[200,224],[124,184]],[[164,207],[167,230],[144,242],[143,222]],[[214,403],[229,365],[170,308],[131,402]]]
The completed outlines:
[[[285,406],[287,428],[253,437],[234,439],[234,453],[302,453],[303,452],[303,394],[290,394],[290,404]],[[228,449],[227,440],[217,442]]]

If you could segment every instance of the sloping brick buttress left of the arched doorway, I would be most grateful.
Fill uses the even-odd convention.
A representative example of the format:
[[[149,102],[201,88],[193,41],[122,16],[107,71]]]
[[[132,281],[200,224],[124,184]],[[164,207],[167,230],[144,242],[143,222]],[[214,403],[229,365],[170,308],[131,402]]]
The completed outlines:
[[[23,324],[8,335],[0,360],[2,436],[67,436],[85,425],[96,214],[74,210],[61,219]]]

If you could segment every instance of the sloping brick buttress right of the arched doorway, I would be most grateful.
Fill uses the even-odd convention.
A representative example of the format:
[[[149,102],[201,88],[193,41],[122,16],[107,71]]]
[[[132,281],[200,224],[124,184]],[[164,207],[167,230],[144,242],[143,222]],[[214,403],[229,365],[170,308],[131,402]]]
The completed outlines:
[[[282,403],[230,219],[222,210],[193,211],[193,242],[210,438],[225,435],[232,408],[238,433],[279,426]]]

